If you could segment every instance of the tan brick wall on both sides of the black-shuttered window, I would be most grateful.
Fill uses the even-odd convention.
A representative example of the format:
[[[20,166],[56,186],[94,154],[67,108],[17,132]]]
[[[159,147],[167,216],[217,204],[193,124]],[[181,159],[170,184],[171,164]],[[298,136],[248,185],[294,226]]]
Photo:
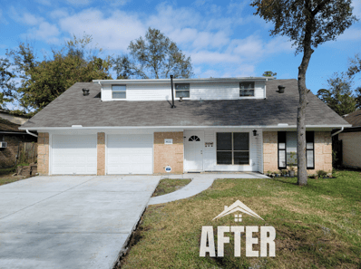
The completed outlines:
[[[297,169],[297,168],[296,168]],[[307,169],[308,174],[317,170],[332,172],[332,140],[330,131],[315,131],[315,169]],[[278,132],[263,132],[263,172],[278,171]]]

